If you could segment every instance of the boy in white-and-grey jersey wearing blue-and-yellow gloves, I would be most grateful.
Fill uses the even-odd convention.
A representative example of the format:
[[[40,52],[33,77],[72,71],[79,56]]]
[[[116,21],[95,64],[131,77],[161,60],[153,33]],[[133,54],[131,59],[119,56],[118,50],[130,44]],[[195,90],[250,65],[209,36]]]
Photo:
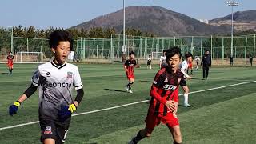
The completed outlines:
[[[45,144],[64,143],[71,121],[71,114],[77,110],[83,97],[83,85],[78,67],[66,63],[72,50],[73,40],[65,30],[55,30],[50,34],[50,49],[54,60],[38,66],[31,79],[32,84],[18,101],[9,108],[14,115],[18,107],[39,87],[39,122],[41,142]],[[72,89],[77,96],[72,98]]]

